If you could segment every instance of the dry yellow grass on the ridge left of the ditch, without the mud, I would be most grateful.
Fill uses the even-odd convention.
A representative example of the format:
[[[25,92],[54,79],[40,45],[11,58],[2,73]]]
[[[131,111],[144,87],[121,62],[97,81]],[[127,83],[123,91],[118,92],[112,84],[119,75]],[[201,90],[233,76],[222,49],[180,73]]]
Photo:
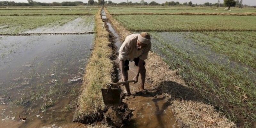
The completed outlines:
[[[108,31],[106,28],[102,28],[103,21],[100,16],[100,10],[95,16],[95,22],[94,49],[86,66],[75,119],[84,119],[84,117],[93,115],[105,108],[101,88],[112,81],[113,63],[110,60],[112,49],[109,47]]]

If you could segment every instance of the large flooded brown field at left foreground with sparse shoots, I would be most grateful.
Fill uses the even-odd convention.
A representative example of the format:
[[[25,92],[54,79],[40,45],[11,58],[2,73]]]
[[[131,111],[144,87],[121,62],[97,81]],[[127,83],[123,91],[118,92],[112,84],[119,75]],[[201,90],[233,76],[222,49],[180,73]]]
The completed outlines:
[[[0,125],[72,123],[92,41],[92,34],[0,36]]]

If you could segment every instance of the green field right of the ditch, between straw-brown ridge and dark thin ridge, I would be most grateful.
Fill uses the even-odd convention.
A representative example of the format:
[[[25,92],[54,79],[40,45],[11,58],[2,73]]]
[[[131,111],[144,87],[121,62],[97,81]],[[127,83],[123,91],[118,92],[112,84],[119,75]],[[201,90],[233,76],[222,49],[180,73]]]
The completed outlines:
[[[123,15],[114,18],[132,31],[256,30],[255,16]]]

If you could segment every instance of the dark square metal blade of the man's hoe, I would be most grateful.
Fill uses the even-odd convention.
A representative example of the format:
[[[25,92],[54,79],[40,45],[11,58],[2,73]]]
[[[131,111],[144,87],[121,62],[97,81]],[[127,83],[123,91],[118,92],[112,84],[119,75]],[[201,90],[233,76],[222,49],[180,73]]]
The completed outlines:
[[[121,105],[119,89],[101,89],[104,104],[107,106]]]

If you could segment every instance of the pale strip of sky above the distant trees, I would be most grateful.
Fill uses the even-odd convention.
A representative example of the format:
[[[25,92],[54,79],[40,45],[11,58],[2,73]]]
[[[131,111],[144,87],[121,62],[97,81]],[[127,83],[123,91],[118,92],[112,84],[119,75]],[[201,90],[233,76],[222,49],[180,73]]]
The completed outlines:
[[[5,1],[5,0],[0,0],[0,1]],[[14,2],[27,2],[27,0],[7,0],[7,1],[14,1]],[[63,1],[82,1],[84,3],[87,3],[88,0],[34,0],[36,2],[46,2],[46,3],[51,3],[51,2],[63,2]],[[94,0],[94,1],[98,1],[98,0]],[[120,2],[127,2],[127,0],[111,0],[112,2],[115,3],[120,3]],[[132,1],[134,2],[140,2],[140,0],[128,0],[129,2]],[[179,1],[180,3],[184,3],[184,2],[189,2],[192,1],[193,4],[204,4],[205,2],[210,2],[210,3],[217,3],[218,0],[144,0],[145,2],[151,2],[151,1],[156,1],[157,3],[164,3],[165,1]],[[221,0],[223,2],[223,0]],[[247,4],[247,5],[256,5],[256,0],[243,0],[243,4]]]

